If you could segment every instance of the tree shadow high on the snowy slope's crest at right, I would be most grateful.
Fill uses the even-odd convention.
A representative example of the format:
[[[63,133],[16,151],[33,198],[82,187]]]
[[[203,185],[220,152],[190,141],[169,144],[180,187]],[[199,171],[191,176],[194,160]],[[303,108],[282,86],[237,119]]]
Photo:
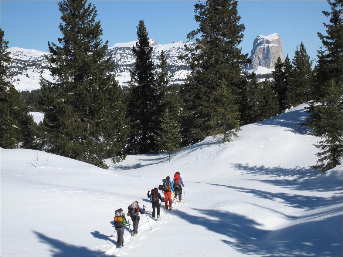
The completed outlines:
[[[281,113],[268,120],[259,121],[255,124],[259,126],[273,125],[278,127],[285,127],[287,131],[291,131],[298,135],[311,135],[311,131],[308,126],[300,126],[299,122],[304,122],[308,118],[308,113],[305,109]]]

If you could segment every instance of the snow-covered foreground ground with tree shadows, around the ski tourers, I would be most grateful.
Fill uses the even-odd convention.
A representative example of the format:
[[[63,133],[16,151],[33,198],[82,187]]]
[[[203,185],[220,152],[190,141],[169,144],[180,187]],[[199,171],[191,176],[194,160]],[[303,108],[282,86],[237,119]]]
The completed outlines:
[[[232,142],[208,137],[171,162],[135,155],[108,170],[1,149],[1,256],[342,256],[342,166],[308,167],[319,138],[298,125],[306,116],[300,105]],[[157,222],[149,213],[152,230],[141,215],[116,249],[115,209],[137,200],[151,212],[146,192],[176,171],[181,204]]]

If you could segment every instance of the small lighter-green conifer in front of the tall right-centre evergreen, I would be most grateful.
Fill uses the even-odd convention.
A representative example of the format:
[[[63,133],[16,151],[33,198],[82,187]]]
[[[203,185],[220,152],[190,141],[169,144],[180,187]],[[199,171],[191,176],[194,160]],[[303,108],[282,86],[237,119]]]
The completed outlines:
[[[210,135],[214,138],[223,139],[223,143],[230,141],[232,137],[238,137],[241,130],[238,120],[239,111],[235,99],[227,82],[223,79],[220,88],[215,90],[214,97],[219,101],[213,112],[213,118],[209,122],[212,128]]]

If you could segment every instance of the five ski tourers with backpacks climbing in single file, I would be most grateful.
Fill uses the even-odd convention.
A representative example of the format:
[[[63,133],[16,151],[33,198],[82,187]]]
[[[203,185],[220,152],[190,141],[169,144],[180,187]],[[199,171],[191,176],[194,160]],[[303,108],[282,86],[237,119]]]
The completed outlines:
[[[163,184],[159,185],[158,188],[155,187],[154,189],[148,191],[147,197],[151,200],[152,205],[152,219],[158,220],[159,216],[159,201],[164,201],[165,210],[171,210],[171,192],[174,193],[174,198],[177,198],[179,195],[179,203],[181,203],[181,194],[182,194],[182,187],[185,187],[182,178],[180,177],[180,172],[176,172],[174,175],[173,182],[170,181],[170,177],[167,176],[165,179],[162,179]],[[158,193],[158,189],[164,192],[164,199],[162,198],[161,194]],[[157,209],[157,218],[155,218],[155,211]],[[137,236],[138,233],[138,223],[139,223],[139,214],[145,214],[146,210],[145,206],[143,208],[139,206],[138,201],[134,201],[132,204],[128,206],[128,216],[131,217],[133,223],[133,230],[132,236]],[[149,221],[149,220],[148,220]],[[118,209],[115,211],[114,217],[114,225],[117,231],[117,247],[121,248],[124,245],[124,227],[129,225],[129,233],[130,232],[130,220],[126,220],[125,213],[123,213],[123,209]]]

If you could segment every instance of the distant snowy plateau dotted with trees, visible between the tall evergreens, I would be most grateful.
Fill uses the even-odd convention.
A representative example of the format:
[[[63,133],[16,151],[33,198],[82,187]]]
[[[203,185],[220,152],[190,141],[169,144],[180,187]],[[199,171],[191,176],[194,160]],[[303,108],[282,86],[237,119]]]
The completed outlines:
[[[115,76],[119,84],[124,87],[128,86],[130,81],[130,71],[134,67],[135,58],[132,53],[132,46],[136,41],[127,43],[117,43],[108,48],[106,57],[112,54],[115,61],[116,69]],[[191,42],[171,42],[169,44],[158,44],[154,39],[150,39],[150,45],[153,46],[152,59],[154,64],[159,63],[161,50],[165,52],[167,62],[169,64],[169,73],[174,75],[171,79],[173,83],[183,83],[189,74],[189,66],[184,61],[178,60],[180,54],[186,53],[184,45],[189,45]],[[19,91],[33,90],[40,88],[40,74],[50,81],[53,77],[47,69],[47,61],[44,54],[48,52],[37,51],[34,49],[24,49],[12,47],[8,49],[11,52],[13,64],[11,65],[14,73],[13,84]],[[27,75],[26,75],[27,74]]]

